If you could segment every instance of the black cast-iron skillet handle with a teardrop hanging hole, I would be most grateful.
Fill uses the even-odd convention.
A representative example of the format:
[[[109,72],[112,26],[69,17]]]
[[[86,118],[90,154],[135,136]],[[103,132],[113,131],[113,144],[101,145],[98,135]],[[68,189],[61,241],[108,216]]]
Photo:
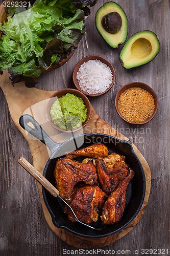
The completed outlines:
[[[55,152],[55,150],[59,147],[60,143],[52,140],[50,136],[48,136],[42,129],[41,125],[31,115],[24,114],[20,116],[19,124],[24,130],[44,143],[50,149],[51,153]],[[32,124],[33,127],[31,127],[29,124]]]

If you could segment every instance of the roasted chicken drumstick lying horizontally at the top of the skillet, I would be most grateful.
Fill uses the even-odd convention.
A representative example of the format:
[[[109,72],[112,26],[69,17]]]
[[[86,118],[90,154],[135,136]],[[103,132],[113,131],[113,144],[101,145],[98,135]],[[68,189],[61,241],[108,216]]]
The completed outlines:
[[[95,143],[91,146],[82,148],[82,150],[72,151],[66,154],[66,158],[74,158],[74,157],[106,157],[108,156],[108,148],[104,144]]]

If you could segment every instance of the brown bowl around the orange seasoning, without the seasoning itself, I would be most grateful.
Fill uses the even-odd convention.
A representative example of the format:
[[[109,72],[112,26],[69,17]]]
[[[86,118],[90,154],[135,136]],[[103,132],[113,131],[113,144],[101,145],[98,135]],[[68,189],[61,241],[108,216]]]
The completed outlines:
[[[132,88],[132,87],[140,87],[140,88],[142,88],[142,89],[148,91],[148,92],[153,96],[154,101],[155,101],[155,109],[154,109],[153,114],[152,114],[147,120],[145,120],[145,121],[143,121],[143,122],[140,122],[140,123],[138,123],[138,122],[130,122],[130,121],[126,120],[126,119],[120,114],[120,112],[119,112],[119,110],[118,110],[118,99],[119,99],[119,97],[120,97],[120,94],[122,94],[122,93],[125,92],[127,89]],[[116,98],[115,98],[115,107],[116,107],[116,111],[117,111],[118,115],[119,115],[120,117],[122,117],[122,119],[124,119],[124,120],[125,120],[126,122],[128,122],[128,123],[133,123],[133,124],[148,123],[148,122],[155,116],[155,114],[156,114],[156,112],[157,112],[157,110],[158,110],[158,98],[157,98],[155,92],[152,90],[152,88],[151,88],[150,86],[148,86],[147,84],[142,83],[142,82],[131,82],[131,83],[125,84],[125,86],[123,86],[122,88],[120,88],[120,90],[117,92]]]

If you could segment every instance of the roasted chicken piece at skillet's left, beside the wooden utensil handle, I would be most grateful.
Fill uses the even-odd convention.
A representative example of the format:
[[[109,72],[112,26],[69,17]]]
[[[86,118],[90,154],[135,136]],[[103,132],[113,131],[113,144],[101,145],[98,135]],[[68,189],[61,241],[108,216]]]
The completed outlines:
[[[80,181],[92,185],[98,179],[96,168],[91,162],[79,163],[68,158],[57,160],[54,177],[60,196],[64,200],[70,200],[74,187]]]

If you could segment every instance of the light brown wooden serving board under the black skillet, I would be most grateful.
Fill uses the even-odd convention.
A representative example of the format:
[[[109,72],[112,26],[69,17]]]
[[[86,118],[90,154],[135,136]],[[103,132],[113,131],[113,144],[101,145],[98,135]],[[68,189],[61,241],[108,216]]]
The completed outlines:
[[[46,131],[48,135],[52,137],[53,140],[56,142],[63,142],[69,139],[72,135],[71,133],[64,133],[57,131],[47,122],[45,116],[45,109],[46,109],[46,102],[48,98],[50,98],[54,91],[43,91],[35,88],[27,88],[23,83],[17,83],[12,86],[9,78],[9,74],[7,71],[4,71],[4,74],[1,76],[1,88],[5,94],[6,100],[8,102],[9,111],[12,117],[12,120],[21,134],[26,138],[30,151],[32,154],[33,165],[39,172],[42,174],[44,166],[49,158],[49,151],[47,147],[40,141],[35,140],[34,137],[28,135],[25,130],[21,128],[19,125],[19,117],[23,113],[31,114],[34,118],[42,125],[43,129]],[[75,132],[74,135],[78,135],[81,133],[104,133],[108,135],[112,135],[118,139],[128,140],[127,137],[120,134],[116,131],[113,127],[107,124],[98,114],[95,113],[94,109],[91,108],[91,116],[89,122],[84,127],[83,131],[79,130]],[[75,236],[74,234],[64,230],[56,228],[53,223],[50,214],[47,211],[45,203],[42,197],[42,189],[41,185],[37,183],[38,190],[40,194],[40,200],[42,204],[43,213],[47,224],[50,228],[57,234],[59,238],[61,238],[64,242],[71,246],[75,246],[78,248],[89,248],[89,247],[101,247],[109,245],[116,240],[122,238],[127,234],[141,219],[142,215],[144,214],[145,208],[148,203],[149,195],[150,195],[150,188],[151,188],[151,171],[147,161],[144,159],[142,154],[138,151],[137,147],[132,143],[133,150],[136,153],[137,157],[139,158],[146,178],[146,192],[144,197],[143,205],[139,211],[139,214],[136,218],[122,231],[105,238],[100,239],[88,239]],[[24,157],[24,156],[23,156]],[[17,160],[17,159],[16,159]]]

